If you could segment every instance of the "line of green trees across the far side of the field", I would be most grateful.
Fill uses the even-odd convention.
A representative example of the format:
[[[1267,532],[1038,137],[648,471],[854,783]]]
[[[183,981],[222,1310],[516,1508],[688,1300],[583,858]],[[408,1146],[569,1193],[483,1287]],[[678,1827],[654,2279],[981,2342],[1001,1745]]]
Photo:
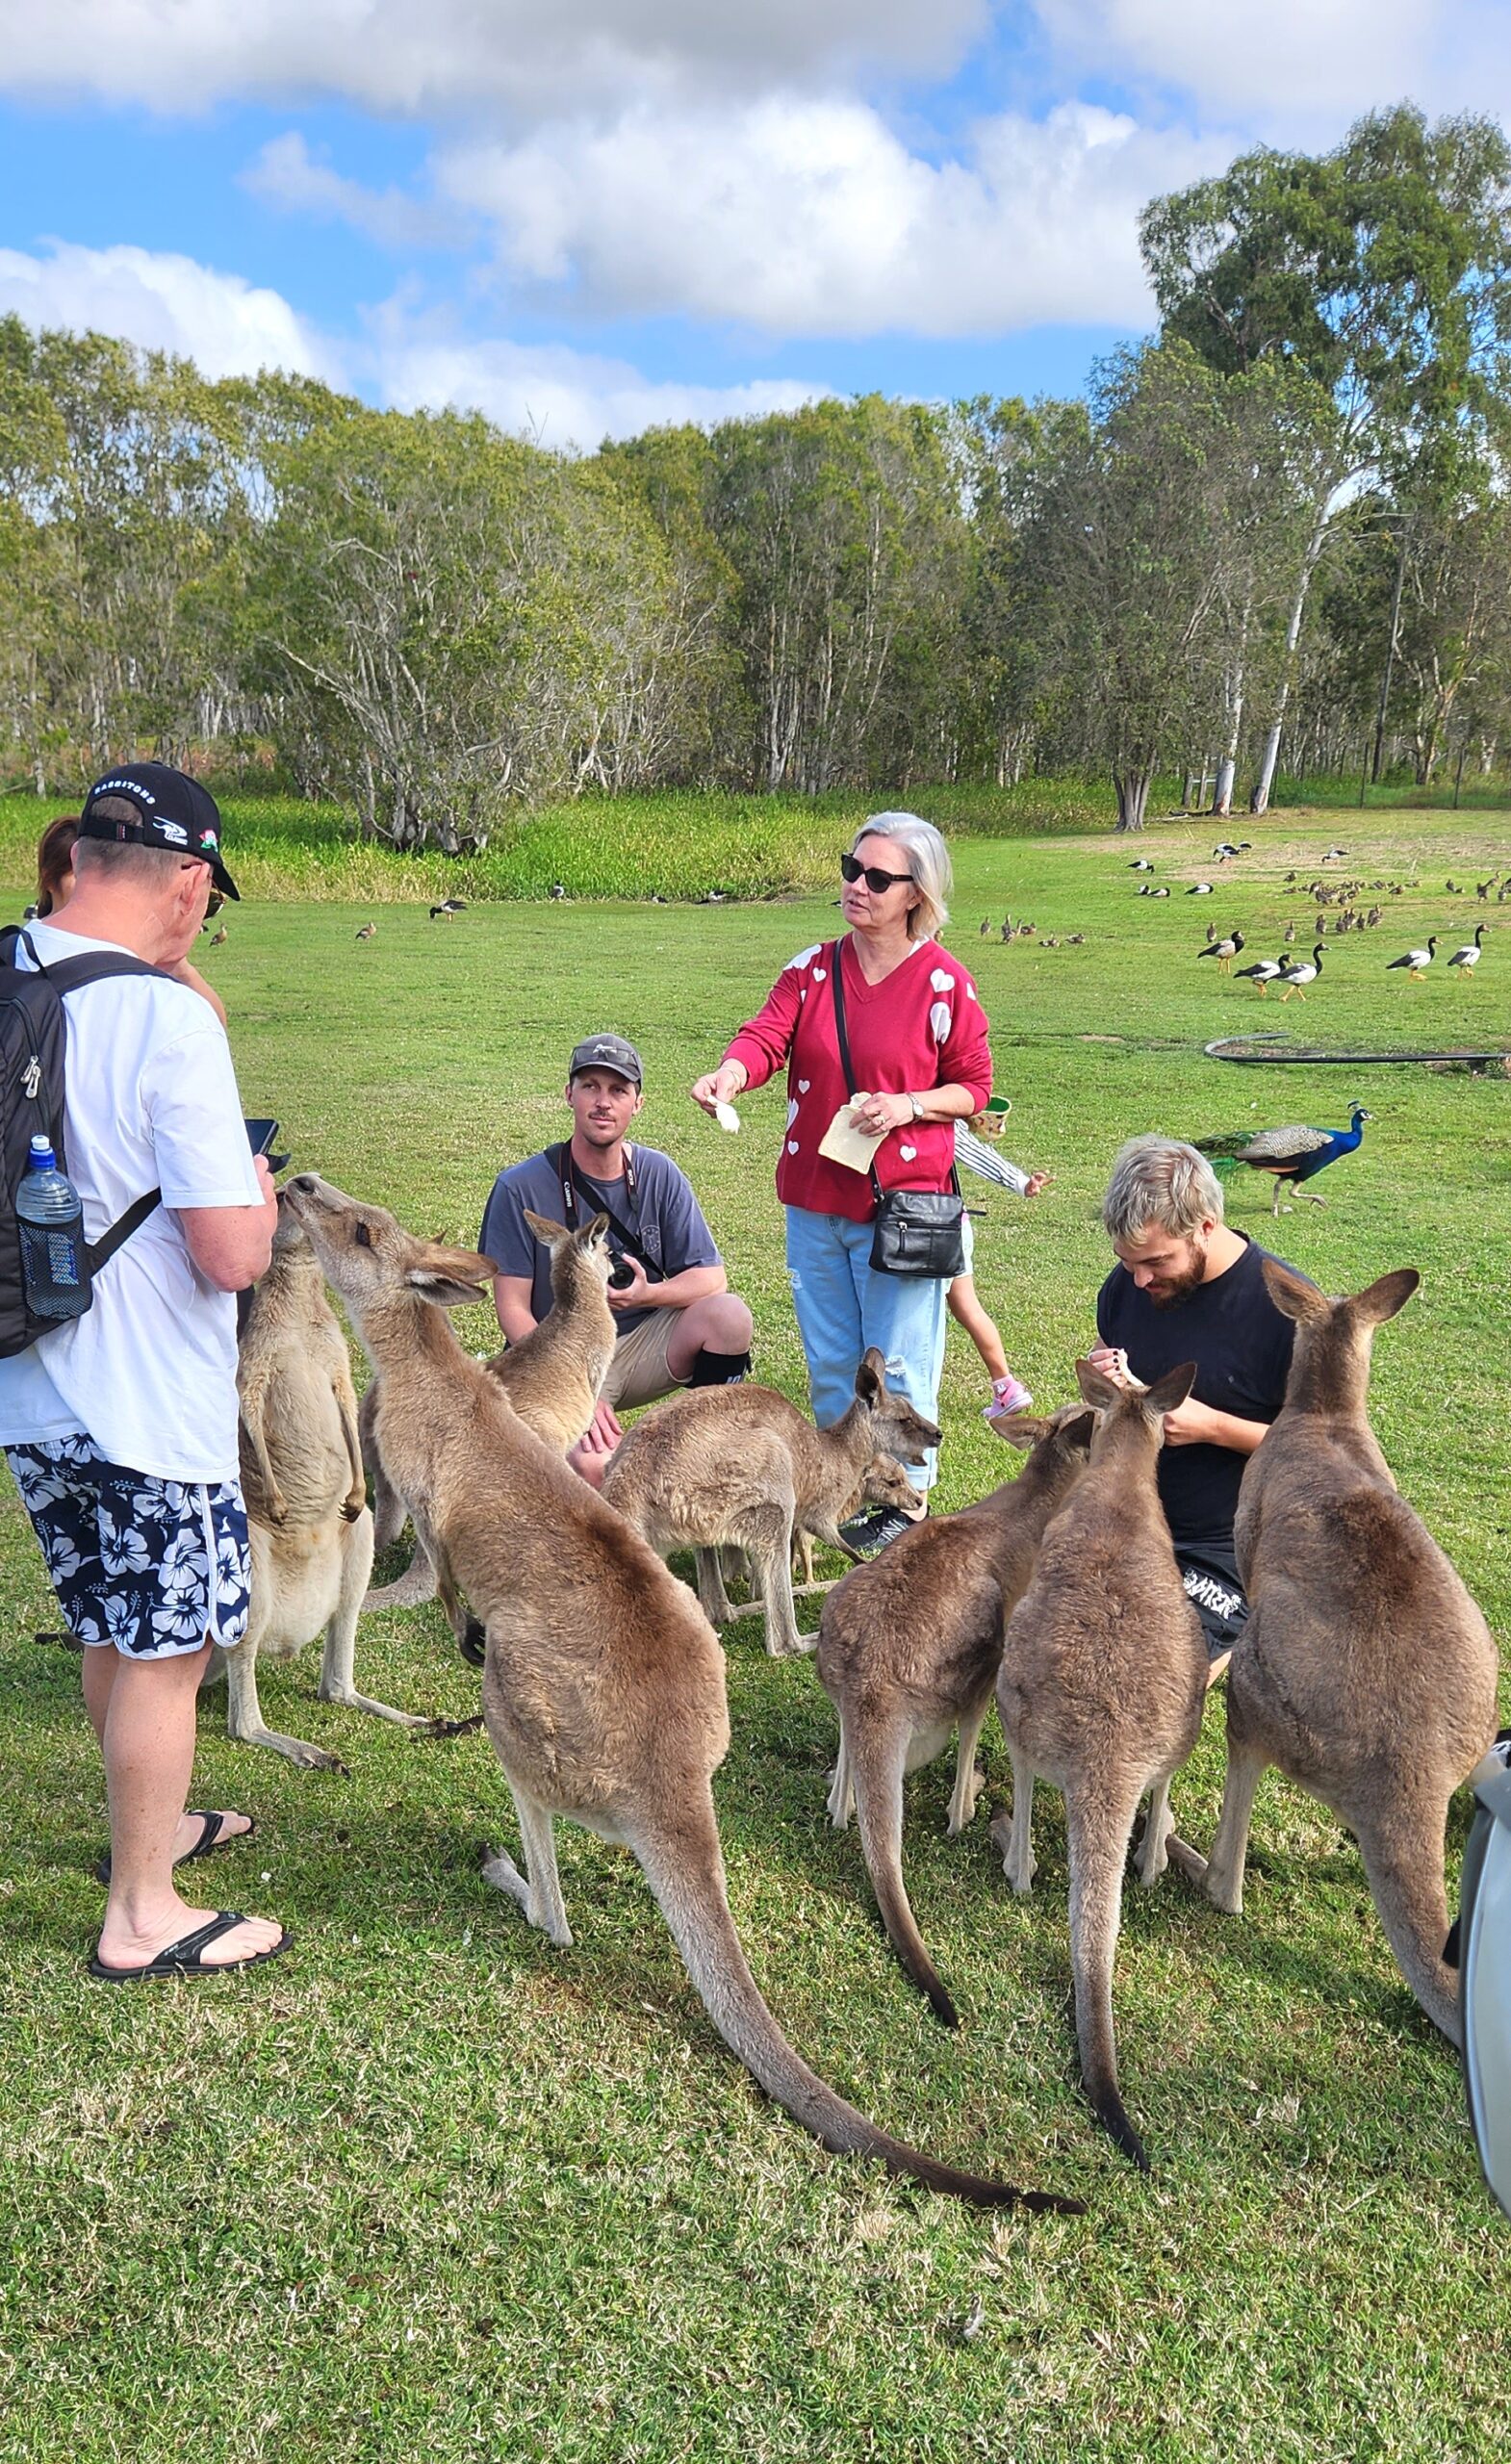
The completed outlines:
[[[1156,766],[1422,784],[1511,732],[1511,148],[1370,113],[1156,200],[1085,399],[550,453],[0,320],[0,744],[274,761],[399,848],[518,798]]]

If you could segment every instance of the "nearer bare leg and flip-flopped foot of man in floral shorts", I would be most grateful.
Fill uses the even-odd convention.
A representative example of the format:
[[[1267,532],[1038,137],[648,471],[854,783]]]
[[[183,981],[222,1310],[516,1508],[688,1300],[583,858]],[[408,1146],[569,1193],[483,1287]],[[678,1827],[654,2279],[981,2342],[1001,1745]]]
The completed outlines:
[[[133,1661],[108,1646],[84,1653],[89,1715],[96,1720],[111,1801],[111,1895],[99,1937],[108,1969],[138,1969],[170,1942],[210,1924],[212,1907],[190,1907],[173,1885],[173,1848],[195,1767],[195,1698],[205,1653]],[[91,1661],[111,1658],[113,1671]],[[99,1708],[99,1717],[96,1717]],[[205,1966],[269,1951],[281,1934],[246,1917],[202,1954]]]

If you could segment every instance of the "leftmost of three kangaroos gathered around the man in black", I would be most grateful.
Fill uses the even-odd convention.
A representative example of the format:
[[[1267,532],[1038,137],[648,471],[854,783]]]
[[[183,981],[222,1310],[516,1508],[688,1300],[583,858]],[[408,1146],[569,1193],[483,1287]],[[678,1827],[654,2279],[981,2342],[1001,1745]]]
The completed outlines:
[[[1070,1404],[1048,1419],[993,1422],[1030,1446],[1020,1478],[959,1515],[902,1533],[845,1574],[823,1602],[818,1683],[841,1715],[841,1759],[828,1791],[836,1831],[860,1814],[865,1870],[897,1959],[947,2028],[959,2025],[902,1882],[902,1781],[934,1762],[959,1730],[949,1836],[976,1811],[976,1737],[991,1710],[1003,1626],[1018,1607],[1045,1523],[1085,1471],[1094,1414]]]

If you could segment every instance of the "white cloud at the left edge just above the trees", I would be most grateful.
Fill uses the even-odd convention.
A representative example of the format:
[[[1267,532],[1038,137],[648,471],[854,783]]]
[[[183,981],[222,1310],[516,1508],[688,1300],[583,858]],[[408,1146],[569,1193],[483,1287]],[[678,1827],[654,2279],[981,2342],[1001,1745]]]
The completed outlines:
[[[192,256],[64,241],[49,241],[44,256],[0,249],[0,313],[177,352],[205,377],[254,377],[259,367],[335,375],[335,352],[279,291],[259,291]]]

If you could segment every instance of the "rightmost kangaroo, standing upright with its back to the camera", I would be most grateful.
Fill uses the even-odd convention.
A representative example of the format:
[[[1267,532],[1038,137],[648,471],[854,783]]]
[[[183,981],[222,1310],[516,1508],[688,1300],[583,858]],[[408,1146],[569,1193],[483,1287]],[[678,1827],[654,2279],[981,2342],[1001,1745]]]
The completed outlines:
[[[1297,1348],[1282,1414],[1237,1498],[1250,1621],[1228,1668],[1228,1786],[1208,1892],[1242,1915],[1255,1789],[1274,1762],[1353,1831],[1400,1971],[1459,2045],[1442,1964],[1442,1833],[1449,1796],[1494,1737],[1496,1646],[1368,1424],[1375,1326],[1405,1308],[1420,1276],[1400,1266],[1329,1301],[1265,1259],[1265,1284],[1297,1321]]]

